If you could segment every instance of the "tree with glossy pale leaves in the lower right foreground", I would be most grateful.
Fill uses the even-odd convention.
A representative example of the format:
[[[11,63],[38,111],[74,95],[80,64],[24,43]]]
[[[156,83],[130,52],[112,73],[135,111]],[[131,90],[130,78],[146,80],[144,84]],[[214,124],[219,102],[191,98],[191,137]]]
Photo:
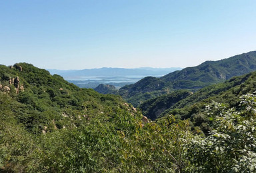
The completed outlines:
[[[213,118],[206,138],[197,136],[187,145],[193,172],[256,171],[256,96],[245,94],[239,106],[213,102],[205,111]]]

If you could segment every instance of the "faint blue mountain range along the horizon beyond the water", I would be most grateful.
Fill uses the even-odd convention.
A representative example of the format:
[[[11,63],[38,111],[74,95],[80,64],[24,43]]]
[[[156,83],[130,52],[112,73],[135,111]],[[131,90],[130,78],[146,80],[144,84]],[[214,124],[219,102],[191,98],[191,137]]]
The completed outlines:
[[[52,75],[57,74],[62,77],[79,77],[79,76],[127,76],[127,75],[166,75],[167,73],[181,70],[180,67],[171,68],[151,68],[141,67],[135,69],[125,68],[107,68],[100,69],[83,69],[83,70],[55,70],[48,69]]]

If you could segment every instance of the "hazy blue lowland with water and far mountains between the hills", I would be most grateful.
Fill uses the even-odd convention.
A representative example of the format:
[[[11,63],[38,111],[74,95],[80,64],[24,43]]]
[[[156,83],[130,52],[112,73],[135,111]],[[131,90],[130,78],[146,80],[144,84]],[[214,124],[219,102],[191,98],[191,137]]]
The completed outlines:
[[[95,88],[100,84],[114,85],[116,88],[136,83],[144,77],[161,77],[173,71],[181,70],[179,67],[137,69],[101,68],[84,70],[48,70],[52,75],[61,75],[65,80],[81,88]]]

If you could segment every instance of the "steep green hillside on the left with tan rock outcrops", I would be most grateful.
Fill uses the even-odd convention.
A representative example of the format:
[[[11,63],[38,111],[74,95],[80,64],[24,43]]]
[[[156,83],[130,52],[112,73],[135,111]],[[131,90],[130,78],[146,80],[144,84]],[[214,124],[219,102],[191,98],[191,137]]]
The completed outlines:
[[[17,77],[19,84],[15,86]],[[104,112],[109,108],[126,107],[121,96],[79,88],[59,75],[50,75],[48,71],[27,63],[13,67],[1,65],[0,82],[0,90],[15,100],[14,112],[18,122],[35,133],[41,132],[44,126],[47,130],[76,126],[71,120],[85,118],[85,114],[91,114],[92,110]]]

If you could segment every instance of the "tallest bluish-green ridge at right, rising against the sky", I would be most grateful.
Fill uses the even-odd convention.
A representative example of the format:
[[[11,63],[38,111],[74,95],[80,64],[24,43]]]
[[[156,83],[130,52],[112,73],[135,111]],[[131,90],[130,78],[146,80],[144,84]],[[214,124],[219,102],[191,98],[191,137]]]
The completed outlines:
[[[189,80],[203,83],[219,83],[234,76],[256,70],[256,51],[243,53],[220,61],[206,61],[197,67],[188,67],[161,77],[169,81]]]

